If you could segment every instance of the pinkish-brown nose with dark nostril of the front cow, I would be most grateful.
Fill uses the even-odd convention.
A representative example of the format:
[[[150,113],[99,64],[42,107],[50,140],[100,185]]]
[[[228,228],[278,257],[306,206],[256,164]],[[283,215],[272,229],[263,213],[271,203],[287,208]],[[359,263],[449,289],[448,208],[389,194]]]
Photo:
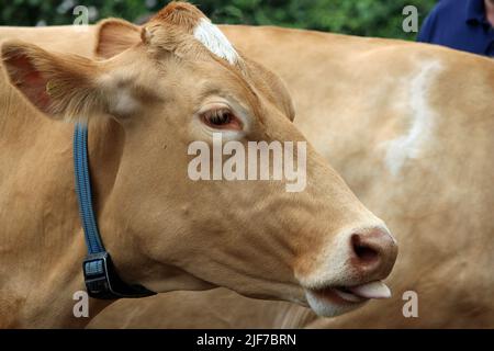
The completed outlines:
[[[369,281],[386,278],[393,269],[397,246],[386,229],[374,228],[350,236],[352,268]]]

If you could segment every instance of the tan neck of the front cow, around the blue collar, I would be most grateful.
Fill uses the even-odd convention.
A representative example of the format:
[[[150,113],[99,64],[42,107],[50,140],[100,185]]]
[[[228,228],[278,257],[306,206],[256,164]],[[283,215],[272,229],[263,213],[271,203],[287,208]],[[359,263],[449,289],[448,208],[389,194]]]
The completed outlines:
[[[111,302],[90,298],[90,318],[74,315],[74,295],[85,291],[86,256],[74,191],[74,125],[26,111],[9,115],[0,128],[0,169],[10,170],[0,171],[0,327],[83,327]],[[112,191],[122,145],[115,123],[90,127],[98,214]]]

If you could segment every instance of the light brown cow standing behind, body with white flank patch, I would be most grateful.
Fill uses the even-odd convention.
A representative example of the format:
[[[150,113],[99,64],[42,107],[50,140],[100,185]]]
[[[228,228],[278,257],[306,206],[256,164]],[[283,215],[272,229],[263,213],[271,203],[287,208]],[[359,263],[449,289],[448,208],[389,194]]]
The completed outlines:
[[[295,125],[396,234],[394,296],[325,319],[225,290],[172,293],[120,302],[92,327],[493,328],[492,60],[390,39],[224,31],[287,81]]]

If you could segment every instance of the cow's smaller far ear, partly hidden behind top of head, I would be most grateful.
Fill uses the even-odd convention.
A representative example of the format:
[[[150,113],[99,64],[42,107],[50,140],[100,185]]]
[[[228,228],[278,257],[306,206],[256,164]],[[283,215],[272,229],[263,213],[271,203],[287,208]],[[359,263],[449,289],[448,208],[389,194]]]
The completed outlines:
[[[98,24],[94,55],[112,58],[127,48],[138,44],[142,30],[127,21],[109,19]]]

